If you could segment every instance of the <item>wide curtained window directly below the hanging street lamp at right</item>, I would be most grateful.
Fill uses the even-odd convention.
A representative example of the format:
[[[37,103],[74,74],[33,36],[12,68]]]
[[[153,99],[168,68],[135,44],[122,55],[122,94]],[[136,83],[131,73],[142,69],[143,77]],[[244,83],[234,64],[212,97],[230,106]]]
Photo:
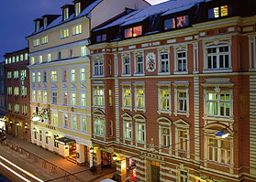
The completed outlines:
[[[208,138],[208,159],[210,161],[230,164],[230,150],[229,140]]]

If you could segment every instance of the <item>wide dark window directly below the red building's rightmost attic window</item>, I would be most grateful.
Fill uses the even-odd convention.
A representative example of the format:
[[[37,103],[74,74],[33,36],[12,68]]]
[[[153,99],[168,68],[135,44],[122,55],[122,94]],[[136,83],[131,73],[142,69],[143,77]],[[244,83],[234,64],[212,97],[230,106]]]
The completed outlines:
[[[218,70],[229,68],[229,48],[221,46],[206,48],[207,69]]]

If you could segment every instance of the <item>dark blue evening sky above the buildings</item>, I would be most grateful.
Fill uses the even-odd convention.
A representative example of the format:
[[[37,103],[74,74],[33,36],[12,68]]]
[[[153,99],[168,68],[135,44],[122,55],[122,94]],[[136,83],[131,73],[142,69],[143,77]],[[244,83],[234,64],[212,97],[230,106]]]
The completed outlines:
[[[166,0],[148,0],[150,4]],[[43,15],[61,15],[61,6],[72,0],[1,0],[0,62],[8,52],[28,47],[25,39],[34,30],[34,19]]]

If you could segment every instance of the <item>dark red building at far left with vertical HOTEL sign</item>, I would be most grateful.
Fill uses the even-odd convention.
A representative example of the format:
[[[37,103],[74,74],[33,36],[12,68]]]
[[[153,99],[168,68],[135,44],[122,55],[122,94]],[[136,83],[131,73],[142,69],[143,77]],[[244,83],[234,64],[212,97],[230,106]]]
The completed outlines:
[[[30,142],[28,48],[6,53],[6,133]]]

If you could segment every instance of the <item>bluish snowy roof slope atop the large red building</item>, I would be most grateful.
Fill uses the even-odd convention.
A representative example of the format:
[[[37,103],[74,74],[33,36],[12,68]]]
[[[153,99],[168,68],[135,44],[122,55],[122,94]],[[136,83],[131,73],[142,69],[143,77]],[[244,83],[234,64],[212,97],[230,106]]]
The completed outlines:
[[[107,27],[128,26],[131,24],[139,23],[140,21],[143,21],[147,17],[154,16],[157,14],[161,14],[161,16],[171,15],[173,13],[188,10],[194,5],[198,5],[206,1],[208,2],[212,0],[170,0],[158,5],[151,5],[143,9],[133,11],[126,16],[122,16],[118,18],[116,21],[113,21],[112,23],[104,27],[96,28],[94,31],[105,29]]]

